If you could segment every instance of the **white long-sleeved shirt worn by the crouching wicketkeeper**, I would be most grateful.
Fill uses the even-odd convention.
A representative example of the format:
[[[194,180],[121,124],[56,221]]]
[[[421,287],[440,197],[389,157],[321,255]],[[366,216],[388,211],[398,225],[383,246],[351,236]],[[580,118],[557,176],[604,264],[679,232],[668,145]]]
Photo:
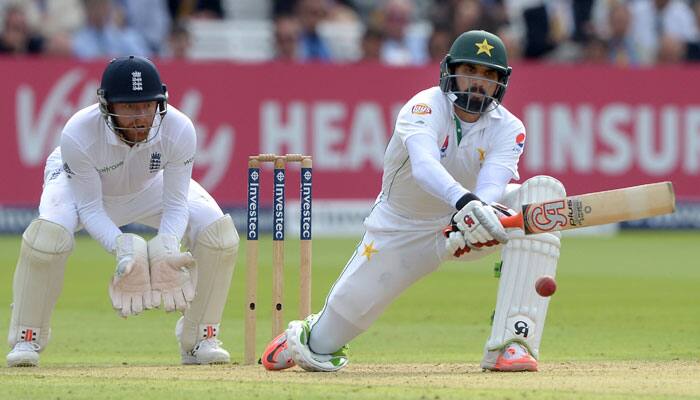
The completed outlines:
[[[114,251],[121,231],[106,214],[103,202],[128,204],[159,174],[163,175],[159,233],[182,239],[189,218],[187,194],[197,147],[194,126],[186,115],[169,105],[158,135],[130,147],[109,129],[94,104],[68,120],[60,147],[80,220],[107,251]]]

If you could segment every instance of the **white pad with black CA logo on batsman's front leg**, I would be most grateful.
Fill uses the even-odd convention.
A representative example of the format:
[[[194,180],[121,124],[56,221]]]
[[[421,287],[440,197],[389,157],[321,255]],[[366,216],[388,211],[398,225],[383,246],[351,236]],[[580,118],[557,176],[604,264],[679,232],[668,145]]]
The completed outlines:
[[[536,176],[517,190],[506,191],[503,202],[520,210],[523,204],[565,196],[561,182],[548,176]],[[484,350],[484,368],[495,365],[500,350],[514,341],[524,344],[530,354],[538,358],[549,297],[535,292],[535,281],[542,275],[554,276],[559,260],[559,232],[525,235],[522,230],[513,229],[509,236],[501,254],[501,278],[491,337]]]

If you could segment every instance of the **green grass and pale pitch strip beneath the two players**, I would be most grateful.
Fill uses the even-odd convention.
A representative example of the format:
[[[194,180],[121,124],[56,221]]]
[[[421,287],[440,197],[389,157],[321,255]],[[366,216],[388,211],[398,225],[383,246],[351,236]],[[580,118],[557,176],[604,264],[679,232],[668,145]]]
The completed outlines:
[[[314,240],[315,310],[323,305],[356,241]],[[0,237],[3,335],[19,243],[16,236]],[[271,248],[268,241],[260,246]],[[155,310],[118,318],[107,295],[112,256],[81,236],[68,261],[42,367],[0,368],[0,398],[700,398],[699,246],[700,232],[565,238],[538,374],[478,371],[495,303],[496,255],[475,263],[445,264],[411,287],[353,341],[346,371],[270,374],[240,365],[178,367],[173,333],[177,316]],[[222,323],[221,339],[234,363],[243,356],[244,253],[243,245]],[[271,308],[271,252],[262,250],[260,256],[258,351],[270,336]],[[289,320],[297,316],[297,242],[287,242],[286,257]],[[635,367],[637,363],[641,367]],[[680,374],[676,381],[674,375],[651,373],[679,366],[697,379],[684,380]],[[644,372],[635,374],[637,368]],[[568,369],[568,377],[557,372]],[[143,375],[148,370],[163,377]],[[391,373],[382,374],[387,370]],[[625,391],[587,381],[601,370],[629,371],[630,377],[640,379],[633,387],[658,382],[649,389]],[[268,385],[271,379],[277,384]],[[552,380],[552,386],[543,379]],[[557,379],[561,382],[554,385]],[[579,380],[584,383],[578,385]],[[620,384],[625,380],[621,374]]]

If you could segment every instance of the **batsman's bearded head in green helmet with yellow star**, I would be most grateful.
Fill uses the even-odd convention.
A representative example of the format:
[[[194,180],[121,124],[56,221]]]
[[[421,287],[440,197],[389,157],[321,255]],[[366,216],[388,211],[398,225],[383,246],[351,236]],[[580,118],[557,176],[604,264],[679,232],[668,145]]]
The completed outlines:
[[[511,70],[498,36],[486,31],[464,32],[440,63],[440,89],[455,107],[483,114],[503,100]]]

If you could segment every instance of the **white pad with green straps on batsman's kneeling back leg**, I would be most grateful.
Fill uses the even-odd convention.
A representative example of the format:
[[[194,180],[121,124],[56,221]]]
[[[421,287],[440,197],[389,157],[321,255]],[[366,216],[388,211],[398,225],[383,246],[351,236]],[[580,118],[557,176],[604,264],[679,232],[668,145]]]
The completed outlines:
[[[303,321],[289,323],[285,335],[287,346],[294,362],[306,371],[335,372],[348,365],[348,346],[345,345],[333,354],[318,354],[309,348],[311,325],[317,316],[312,314]]]

